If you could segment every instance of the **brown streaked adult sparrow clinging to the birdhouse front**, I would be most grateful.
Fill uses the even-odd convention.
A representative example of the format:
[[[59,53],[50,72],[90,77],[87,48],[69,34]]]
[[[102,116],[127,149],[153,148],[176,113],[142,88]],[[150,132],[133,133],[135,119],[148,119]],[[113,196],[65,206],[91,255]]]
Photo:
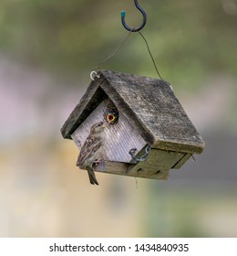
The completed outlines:
[[[93,164],[98,164],[98,155],[103,144],[103,132],[106,125],[103,122],[95,123],[90,128],[90,133],[82,145],[77,158],[77,166],[88,170],[89,181],[92,185],[98,185]]]

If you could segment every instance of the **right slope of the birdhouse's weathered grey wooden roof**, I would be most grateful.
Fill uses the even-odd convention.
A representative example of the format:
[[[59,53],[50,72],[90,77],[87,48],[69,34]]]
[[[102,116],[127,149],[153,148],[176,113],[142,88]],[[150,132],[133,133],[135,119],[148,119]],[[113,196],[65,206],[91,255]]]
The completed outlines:
[[[108,70],[103,70],[102,74],[106,80],[101,83],[101,88],[113,95],[125,115],[134,116],[141,135],[145,140],[150,137],[152,147],[201,153],[204,148],[201,135],[168,82]]]

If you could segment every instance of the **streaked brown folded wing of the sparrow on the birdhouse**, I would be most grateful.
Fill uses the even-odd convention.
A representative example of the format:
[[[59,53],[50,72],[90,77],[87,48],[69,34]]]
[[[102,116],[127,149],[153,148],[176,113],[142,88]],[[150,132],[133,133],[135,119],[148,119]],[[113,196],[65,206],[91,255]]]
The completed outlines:
[[[93,157],[101,146],[100,138],[88,136],[78,155],[77,165],[82,165],[86,160]]]

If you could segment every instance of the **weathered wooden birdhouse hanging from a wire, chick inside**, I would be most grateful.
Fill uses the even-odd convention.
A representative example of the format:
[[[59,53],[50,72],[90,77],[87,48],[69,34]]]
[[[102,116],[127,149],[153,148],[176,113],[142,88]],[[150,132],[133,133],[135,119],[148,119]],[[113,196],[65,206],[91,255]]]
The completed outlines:
[[[109,123],[95,171],[166,179],[204,142],[165,80],[102,70],[69,115],[61,133],[78,149],[98,122]]]

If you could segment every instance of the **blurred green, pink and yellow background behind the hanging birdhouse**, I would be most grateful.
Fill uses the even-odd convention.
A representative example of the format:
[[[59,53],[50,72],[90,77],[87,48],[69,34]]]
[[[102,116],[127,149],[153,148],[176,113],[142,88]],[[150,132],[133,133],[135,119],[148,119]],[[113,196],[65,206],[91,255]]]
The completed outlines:
[[[1,237],[237,237],[237,1],[139,0],[142,33],[201,133],[196,162],[168,181],[76,167],[60,128],[89,73],[138,27],[130,1],[0,1]],[[103,66],[157,77],[133,33]]]

